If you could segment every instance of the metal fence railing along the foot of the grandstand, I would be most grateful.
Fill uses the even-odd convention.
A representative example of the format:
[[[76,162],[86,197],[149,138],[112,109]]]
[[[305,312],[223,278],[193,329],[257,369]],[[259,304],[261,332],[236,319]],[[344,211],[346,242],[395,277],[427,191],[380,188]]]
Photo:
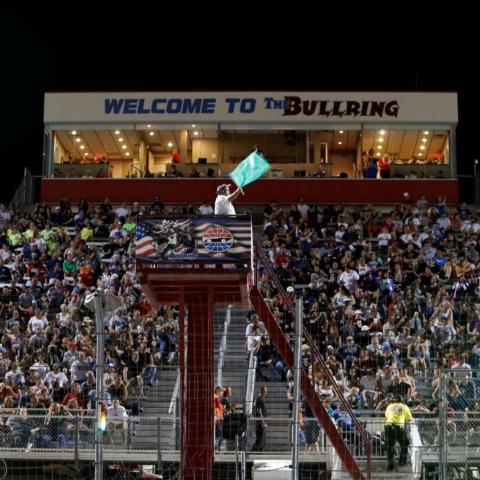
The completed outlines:
[[[383,415],[362,414],[358,421],[372,444],[372,462],[380,469],[386,468]],[[261,451],[252,448],[258,434],[258,422],[266,425]],[[224,438],[216,458],[221,460],[222,456],[228,458],[230,455],[230,461],[237,459],[243,475],[245,464],[254,459],[289,459],[292,444],[296,442],[301,463],[326,463],[330,471],[336,472],[337,476],[332,475],[332,478],[342,478],[343,467],[335,462],[338,456],[332,451],[317,419],[303,419],[297,439],[292,438],[292,422],[290,417],[250,417],[246,432],[240,432],[238,446],[229,441],[227,432],[223,432]],[[62,458],[77,461],[93,459],[95,428],[95,417],[91,414],[58,417],[28,414],[24,419],[17,414],[3,415],[0,417],[1,456],[38,460],[58,458],[59,452],[62,452]],[[112,459],[118,461],[119,458],[122,461],[150,461],[158,465],[168,461],[179,462],[180,446],[172,440],[178,438],[178,435],[172,435],[172,430],[178,428],[178,419],[172,417],[129,417],[125,421],[107,421],[105,459],[107,462]],[[336,428],[357,461],[366,462],[365,446],[353,424],[345,425],[337,420]],[[406,470],[402,470],[405,479],[418,480],[426,467],[439,469],[441,475],[453,466],[468,470],[480,464],[480,412],[449,413],[447,424],[439,415],[415,414],[409,437],[409,462]],[[443,441],[446,441],[447,457],[442,457]]]

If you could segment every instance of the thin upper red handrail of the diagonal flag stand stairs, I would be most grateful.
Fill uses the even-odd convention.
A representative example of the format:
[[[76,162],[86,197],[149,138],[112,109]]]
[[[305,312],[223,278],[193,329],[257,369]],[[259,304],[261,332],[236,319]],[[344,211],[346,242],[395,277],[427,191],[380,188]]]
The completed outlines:
[[[282,300],[285,302],[285,305],[288,307],[290,310],[290,313],[293,315],[293,318],[295,318],[295,308],[288,298],[287,292],[285,292],[285,289],[283,288],[283,285],[281,284],[280,280],[278,280],[277,276],[275,275],[275,272],[273,271],[273,268],[271,267],[270,263],[268,260],[265,258],[265,255],[263,254],[262,247],[258,244],[258,242],[255,242],[255,254],[256,258],[260,261],[260,263],[265,267],[265,269],[268,272],[268,275],[270,277],[270,280],[275,284],[277,287],[278,293]],[[352,407],[350,407],[350,404],[348,401],[345,399],[343,396],[342,391],[337,385],[337,382],[333,378],[333,375],[331,374],[328,365],[325,363],[325,360],[321,353],[318,351],[315,343],[312,340],[312,337],[308,333],[307,329],[304,327],[303,328],[303,337],[307,341],[307,343],[310,346],[310,351],[312,352],[312,356],[314,357],[315,360],[317,360],[318,363],[320,363],[323,371],[326,373],[328,380],[330,381],[330,384],[332,385],[332,388],[334,392],[336,393],[337,397],[340,399],[342,404],[345,406],[348,414],[352,418],[352,422],[355,424],[355,427],[357,428],[358,433],[362,437],[364,445],[367,447],[367,475],[370,478],[370,467],[371,467],[371,456],[372,456],[372,444],[367,437],[367,434],[365,433],[364,428],[362,427],[361,423],[358,421],[357,417],[355,416],[355,413],[352,410]]]

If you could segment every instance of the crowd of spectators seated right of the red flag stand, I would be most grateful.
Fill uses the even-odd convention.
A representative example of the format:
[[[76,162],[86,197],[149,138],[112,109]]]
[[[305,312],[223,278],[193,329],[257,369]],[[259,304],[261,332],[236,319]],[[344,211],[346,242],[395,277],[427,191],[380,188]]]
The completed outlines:
[[[480,360],[480,216],[445,198],[405,200],[390,208],[302,199],[282,208],[272,201],[264,211],[264,252],[287,297],[301,291],[304,325],[355,411],[382,410],[396,394],[414,410],[435,411],[441,369],[455,372],[447,379],[449,408],[480,411],[472,378]],[[292,312],[267,272],[258,286],[293,344]],[[255,322],[251,329],[257,341],[247,330],[247,346],[255,345],[262,365],[268,333],[262,337]],[[271,375],[291,381],[268,350]],[[335,412],[335,389],[307,343],[302,355]]]

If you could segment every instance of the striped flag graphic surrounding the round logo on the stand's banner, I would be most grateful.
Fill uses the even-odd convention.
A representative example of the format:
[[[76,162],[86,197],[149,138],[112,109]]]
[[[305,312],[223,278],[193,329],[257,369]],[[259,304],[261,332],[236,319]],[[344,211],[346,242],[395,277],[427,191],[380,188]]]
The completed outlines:
[[[232,246],[224,252],[212,252],[205,247],[204,235],[215,230],[229,230],[233,235]],[[249,258],[252,247],[252,231],[249,222],[202,222],[195,227],[197,252],[200,256]]]

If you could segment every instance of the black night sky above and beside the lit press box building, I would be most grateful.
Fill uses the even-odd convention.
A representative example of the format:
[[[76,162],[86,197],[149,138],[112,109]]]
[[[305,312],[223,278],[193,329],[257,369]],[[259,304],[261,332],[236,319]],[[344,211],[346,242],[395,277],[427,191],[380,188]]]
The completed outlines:
[[[262,15],[245,5],[246,18],[232,22],[224,7],[189,6],[186,13],[162,6],[157,15],[142,2],[86,5],[3,11],[2,202],[24,166],[41,173],[45,91],[457,91],[458,173],[471,174],[480,158],[478,40],[451,12],[441,24],[431,17],[422,23],[416,10],[415,18],[393,21],[397,12],[377,23],[355,12],[347,21],[341,12]]]

